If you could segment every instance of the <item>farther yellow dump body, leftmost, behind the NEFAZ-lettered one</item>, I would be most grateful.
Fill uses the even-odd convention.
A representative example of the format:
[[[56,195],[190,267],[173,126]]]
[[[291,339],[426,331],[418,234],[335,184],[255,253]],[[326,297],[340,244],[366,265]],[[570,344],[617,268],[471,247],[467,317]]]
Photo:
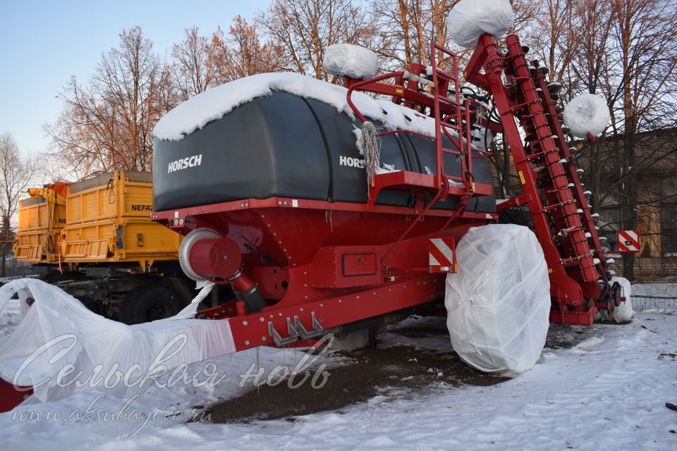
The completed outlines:
[[[28,199],[19,201],[19,224],[14,242],[18,261],[55,264],[59,262],[61,229],[66,225],[66,189],[57,182],[30,188]]]

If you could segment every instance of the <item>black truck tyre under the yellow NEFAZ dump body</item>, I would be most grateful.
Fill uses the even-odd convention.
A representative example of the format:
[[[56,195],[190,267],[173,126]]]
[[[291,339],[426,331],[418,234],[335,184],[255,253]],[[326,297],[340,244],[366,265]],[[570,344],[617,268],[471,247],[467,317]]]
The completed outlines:
[[[120,321],[147,323],[181,311],[181,301],[169,288],[145,285],[128,292],[120,304]]]

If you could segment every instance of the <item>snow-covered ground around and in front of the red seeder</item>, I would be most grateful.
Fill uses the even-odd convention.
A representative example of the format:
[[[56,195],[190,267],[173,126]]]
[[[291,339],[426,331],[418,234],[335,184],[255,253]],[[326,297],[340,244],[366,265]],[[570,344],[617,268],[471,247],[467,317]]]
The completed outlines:
[[[677,285],[634,285],[634,293],[656,301],[677,297]],[[635,299],[638,305],[643,302]],[[4,450],[45,451],[676,450],[677,412],[665,403],[677,404],[677,309],[674,302],[657,305],[647,305],[625,326],[553,326],[549,347],[535,369],[488,387],[439,381],[408,393],[386,392],[338,411],[297,416],[295,421],[186,422],[193,407],[200,412],[201,406],[219,398],[243,393],[238,375],[257,362],[257,351],[250,350],[214,360],[226,375],[215,388],[153,387],[126,408],[124,401],[112,397],[96,404],[97,393],[92,392],[23,405],[0,414],[0,444]],[[18,311],[3,312],[0,327],[11,329],[16,318]],[[410,319],[404,326],[431,321],[439,319]],[[397,344],[451,347],[441,336],[404,337],[391,329],[382,345]],[[258,364],[269,369],[279,363],[293,365],[302,355],[260,349]],[[345,360],[327,357],[317,363],[327,363],[331,373]],[[444,361],[440,368],[445,371]],[[183,413],[176,419],[158,419],[155,414],[145,421],[143,416],[165,411]],[[19,417],[30,412],[63,416],[42,421]],[[97,418],[106,414],[107,419]],[[127,435],[133,436],[123,440]]]

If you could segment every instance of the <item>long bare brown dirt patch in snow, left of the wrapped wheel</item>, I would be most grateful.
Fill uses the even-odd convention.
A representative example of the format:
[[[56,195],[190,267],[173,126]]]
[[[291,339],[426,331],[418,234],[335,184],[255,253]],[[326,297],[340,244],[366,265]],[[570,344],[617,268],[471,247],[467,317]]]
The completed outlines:
[[[400,330],[398,330],[400,332]],[[343,407],[364,402],[376,395],[389,400],[408,398],[432,383],[449,385],[494,385],[508,378],[471,369],[453,351],[429,352],[413,346],[386,346],[345,354],[350,361],[328,369],[322,388],[307,381],[291,389],[286,383],[262,385],[240,397],[207,409],[214,423],[243,423],[286,418],[325,410],[341,413]]]

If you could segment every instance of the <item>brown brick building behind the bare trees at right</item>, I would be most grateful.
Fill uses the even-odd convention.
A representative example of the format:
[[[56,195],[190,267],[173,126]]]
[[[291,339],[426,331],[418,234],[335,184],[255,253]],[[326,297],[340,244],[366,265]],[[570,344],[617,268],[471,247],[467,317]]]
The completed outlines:
[[[623,274],[623,259],[614,254],[618,249],[616,232],[623,230],[623,183],[628,176],[637,183],[637,230],[642,240],[635,257],[635,280],[677,280],[677,128],[642,132],[635,136],[635,170],[623,171],[623,135],[604,137],[592,144],[573,142],[580,175],[585,190],[592,191],[592,211],[599,213],[599,234],[606,237],[611,257],[616,261],[611,269]],[[509,153],[494,154],[494,173],[504,172],[504,185],[496,192],[507,196],[519,194],[520,181],[509,161]],[[508,166],[506,166],[508,165]],[[495,177],[499,180],[501,177]],[[498,197],[503,197],[499,194]]]

